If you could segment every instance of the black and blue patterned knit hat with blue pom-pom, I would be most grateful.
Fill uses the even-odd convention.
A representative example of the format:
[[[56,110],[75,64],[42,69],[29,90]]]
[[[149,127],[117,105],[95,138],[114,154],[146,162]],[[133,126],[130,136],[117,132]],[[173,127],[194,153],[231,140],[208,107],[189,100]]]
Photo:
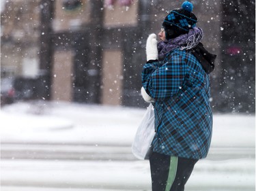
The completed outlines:
[[[162,22],[162,27],[165,29],[166,39],[173,39],[182,34],[188,33],[197,24],[197,17],[192,13],[193,4],[184,1],[182,8],[171,10]]]

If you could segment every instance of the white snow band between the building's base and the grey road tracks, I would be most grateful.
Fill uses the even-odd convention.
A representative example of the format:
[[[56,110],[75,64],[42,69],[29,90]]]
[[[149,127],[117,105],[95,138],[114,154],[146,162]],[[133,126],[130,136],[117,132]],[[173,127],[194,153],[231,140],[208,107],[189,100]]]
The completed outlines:
[[[131,145],[145,109],[17,103],[0,111],[1,142]],[[214,114],[212,147],[255,147],[255,116]]]

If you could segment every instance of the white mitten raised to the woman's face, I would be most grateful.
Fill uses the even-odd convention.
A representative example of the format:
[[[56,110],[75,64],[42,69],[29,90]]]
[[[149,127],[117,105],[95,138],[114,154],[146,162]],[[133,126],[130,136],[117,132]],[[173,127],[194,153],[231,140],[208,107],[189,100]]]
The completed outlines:
[[[157,40],[154,33],[147,37],[146,54],[147,61],[158,60]]]

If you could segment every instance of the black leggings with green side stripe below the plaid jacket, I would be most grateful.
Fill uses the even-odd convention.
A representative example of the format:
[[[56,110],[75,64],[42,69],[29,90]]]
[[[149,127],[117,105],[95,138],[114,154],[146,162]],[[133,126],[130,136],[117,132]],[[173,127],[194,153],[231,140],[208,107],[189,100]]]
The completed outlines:
[[[152,152],[150,170],[152,191],[184,191],[184,186],[198,160]]]

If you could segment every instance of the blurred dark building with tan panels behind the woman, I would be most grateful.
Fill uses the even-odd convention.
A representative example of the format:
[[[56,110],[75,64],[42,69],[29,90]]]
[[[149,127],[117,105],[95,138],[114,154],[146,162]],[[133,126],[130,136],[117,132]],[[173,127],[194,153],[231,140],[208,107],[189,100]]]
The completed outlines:
[[[183,1],[12,0],[1,12],[1,77],[33,99],[142,107],[145,41]],[[254,1],[191,1],[218,55],[214,111],[255,112]],[[253,16],[254,15],[254,16]]]

